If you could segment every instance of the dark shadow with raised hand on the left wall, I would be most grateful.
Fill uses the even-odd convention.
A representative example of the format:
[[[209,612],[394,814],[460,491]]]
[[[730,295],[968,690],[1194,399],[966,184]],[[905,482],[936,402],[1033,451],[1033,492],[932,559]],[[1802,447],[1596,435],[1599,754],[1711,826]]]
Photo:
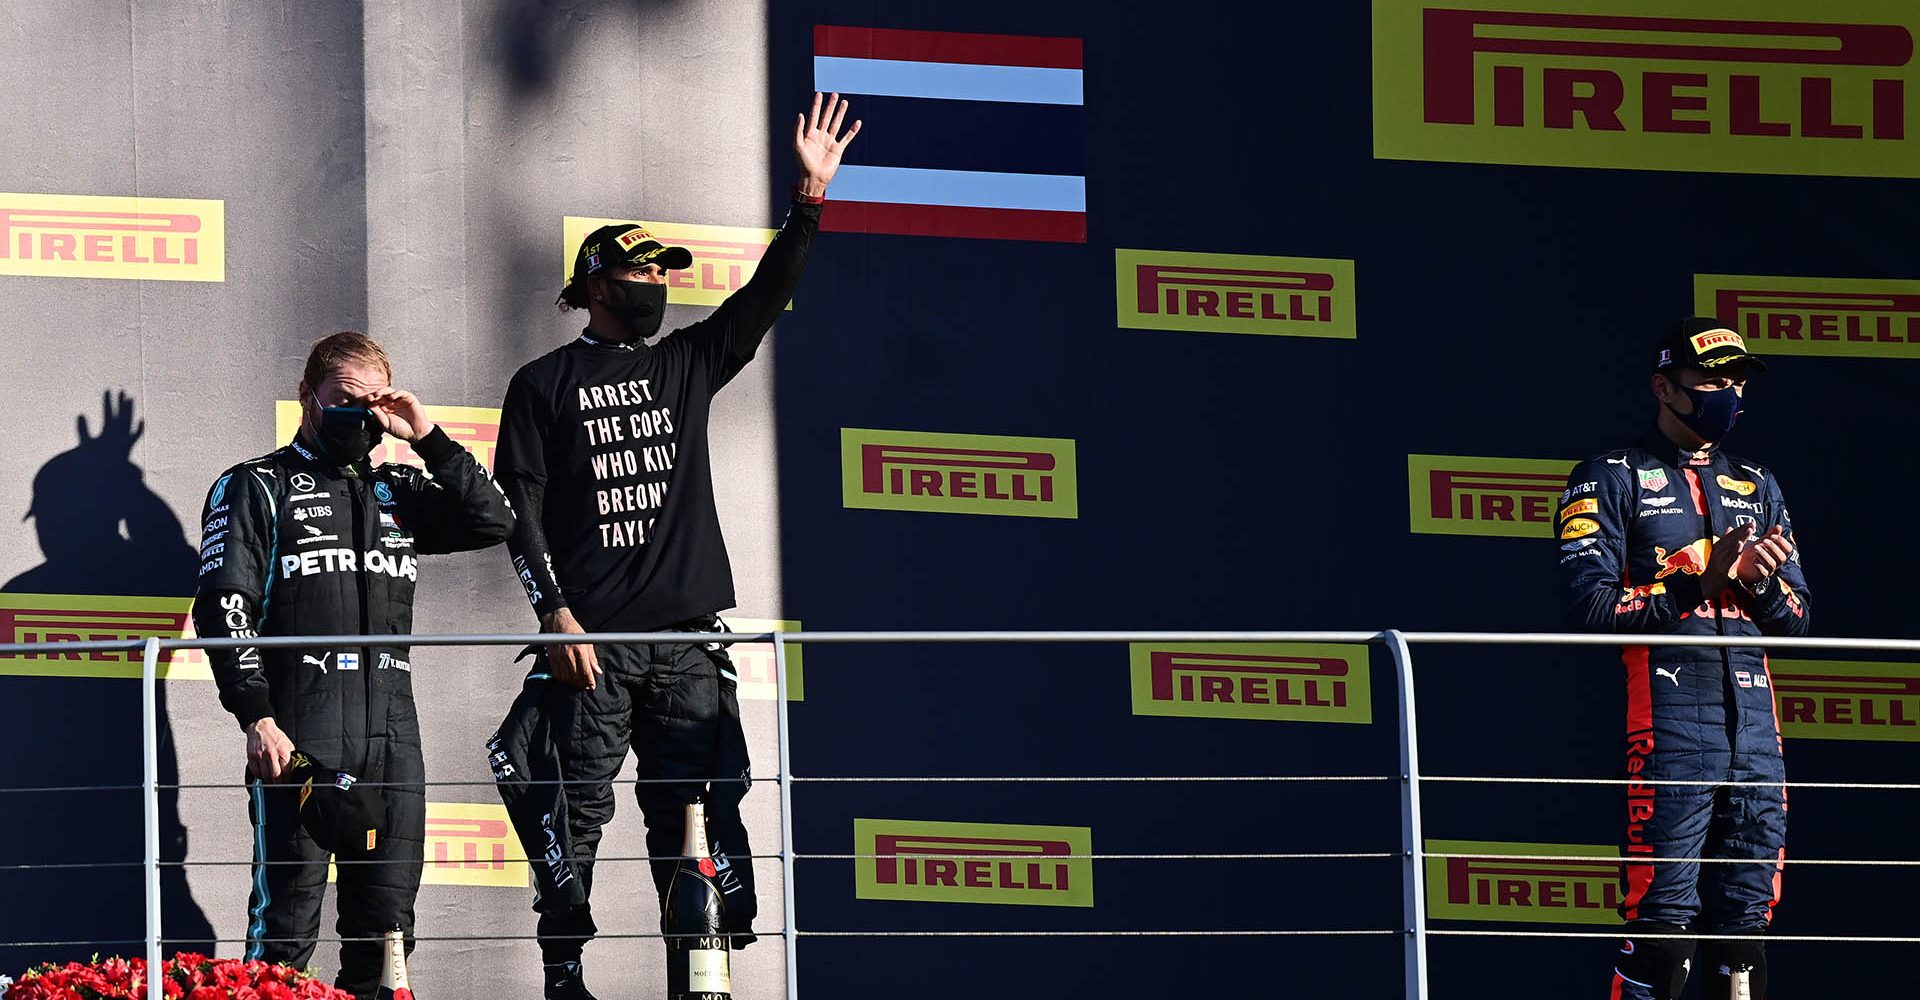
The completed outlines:
[[[132,463],[146,424],[132,399],[102,393],[100,434],[77,418],[81,443],[61,451],[33,478],[33,520],[46,562],[15,576],[0,591],[115,597],[188,597],[198,553],[173,514]],[[180,768],[167,722],[167,683],[159,685],[159,781],[175,785]],[[134,791],[13,793],[12,787],[138,785],[140,687],[104,678],[6,678],[0,691],[8,726],[0,727],[0,862],[138,860],[142,806]],[[211,695],[209,695],[211,697]],[[186,858],[180,793],[159,793],[159,856]],[[123,944],[146,933],[138,868],[0,871],[0,942],[77,940],[61,948],[0,946],[0,973],[38,962],[138,954]],[[194,902],[186,869],[161,868],[165,950],[213,950],[213,925]]]

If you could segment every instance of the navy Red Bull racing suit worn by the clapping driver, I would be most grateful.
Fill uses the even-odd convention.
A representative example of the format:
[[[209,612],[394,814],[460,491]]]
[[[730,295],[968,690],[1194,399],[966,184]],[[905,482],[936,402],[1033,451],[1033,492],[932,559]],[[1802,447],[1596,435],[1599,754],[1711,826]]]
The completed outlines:
[[[1567,622],[1584,631],[1805,635],[1812,595],[1799,549],[1759,591],[1701,595],[1713,543],[1736,524],[1757,541],[1793,537],[1780,484],[1716,447],[1686,451],[1659,430],[1582,463],[1559,512]],[[1766,651],[1626,647],[1626,866],[1620,916],[1634,929],[1755,933],[1772,919],[1786,856],[1786,791],[1711,781],[1786,781]],[[1649,864],[1755,858],[1763,864]],[[1770,864],[1768,864],[1770,862]],[[1684,960],[1670,942],[1624,952],[1617,996],[1663,996]],[[1755,994],[1759,996],[1759,994]]]

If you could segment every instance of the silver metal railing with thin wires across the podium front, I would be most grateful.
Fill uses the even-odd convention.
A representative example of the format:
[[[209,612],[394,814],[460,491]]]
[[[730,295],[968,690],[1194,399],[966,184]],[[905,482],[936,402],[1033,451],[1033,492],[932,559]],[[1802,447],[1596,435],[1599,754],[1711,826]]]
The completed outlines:
[[[787,996],[799,996],[797,942],[801,937],[1384,937],[1404,939],[1405,958],[1405,996],[1427,1000],[1427,939],[1434,935],[1473,937],[1571,937],[1571,939],[1611,939],[1619,931],[1467,931],[1467,929],[1428,929],[1427,900],[1421,881],[1421,862],[1427,858],[1484,858],[1484,860],[1563,860],[1532,854],[1452,854],[1425,850],[1421,829],[1421,783],[1423,781],[1488,781],[1488,783],[1584,783],[1584,785],[1624,785],[1624,779],[1580,779],[1580,777],[1476,777],[1476,775],[1421,775],[1419,758],[1419,712],[1413,693],[1413,645],[1549,645],[1549,647],[1759,647],[1782,649],[1864,649],[1884,653],[1920,653],[1920,639],[1807,639],[1807,637],[1768,637],[1751,635],[1590,635],[1590,633],[1501,633],[1501,631],[726,631],[726,633],[591,633],[591,635],[276,635],[255,639],[159,639],[146,641],[77,641],[77,643],[13,643],[0,645],[0,655],[44,655],[50,645],[60,645],[63,653],[142,653],[142,737],[144,768],[138,785],[144,798],[144,860],[142,862],[100,862],[100,866],[142,864],[146,875],[146,960],[148,967],[161,967],[161,906],[159,906],[159,720],[157,683],[159,660],[165,653],[182,649],[313,649],[336,645],[394,645],[401,641],[409,647],[444,645],[572,645],[593,643],[772,643],[776,672],[776,739],[780,747],[780,772],[772,777],[780,785],[780,866],[783,875],[781,912],[783,925],[778,935],[785,942]],[[862,645],[862,643],[1356,643],[1380,645],[1392,656],[1398,685],[1400,722],[1400,774],[1398,775],[1081,775],[1081,777],[799,777],[793,774],[791,726],[787,710],[787,647],[793,643],[818,645]],[[1394,929],[1238,929],[1238,931],[801,931],[795,919],[795,877],[793,862],[801,858],[793,848],[793,785],[829,781],[1398,781],[1400,783],[1400,852],[1340,852],[1340,854],[1092,854],[1089,858],[1140,858],[1140,860],[1236,860],[1236,858],[1394,858],[1402,862],[1402,925]],[[490,783],[490,781],[476,781]],[[1657,781],[1665,785],[1726,785],[1726,781]],[[1822,789],[1885,789],[1916,791],[1912,783],[1859,783],[1859,781],[1809,781],[1809,783],[1757,783],[1780,787],[1822,787]],[[202,785],[169,785],[202,787]],[[227,787],[227,785],[211,785]],[[4,791],[98,791],[104,787],[73,789],[4,789]],[[131,791],[132,785],[113,785]],[[870,858],[868,854],[804,854],[804,858]],[[941,854],[939,858],[948,858]],[[962,858],[954,854],[952,858]],[[605,858],[630,860],[630,858]],[[639,858],[634,858],[639,860]],[[1722,864],[1761,864],[1738,858],[1649,858],[1651,862],[1722,862]],[[223,864],[223,862],[169,862],[169,864]],[[242,862],[232,862],[242,864]],[[1768,858],[1764,864],[1778,864]],[[1880,866],[1920,866],[1920,860],[1793,860],[1791,864],[1880,864]],[[4,866],[4,868],[44,868],[44,866]],[[84,868],[84,866],[61,866]],[[599,937],[664,937],[664,935],[599,935]],[[1644,935],[1661,937],[1661,935]],[[1668,935],[1670,937],[1670,935]],[[1753,935],[1684,935],[1720,937],[1728,940],[1751,939]],[[1916,937],[1828,937],[1828,935],[1768,935],[1768,940],[1828,940],[1828,942],[1920,942]],[[440,940],[419,937],[419,940]],[[468,940],[447,939],[447,940]],[[6,942],[35,944],[35,942]],[[100,942],[113,944],[113,942]]]

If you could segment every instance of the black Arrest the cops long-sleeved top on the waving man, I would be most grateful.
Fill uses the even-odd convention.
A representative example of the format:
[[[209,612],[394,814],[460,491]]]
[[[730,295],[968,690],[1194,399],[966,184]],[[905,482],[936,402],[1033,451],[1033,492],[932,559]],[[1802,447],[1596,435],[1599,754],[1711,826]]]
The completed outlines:
[[[643,631],[733,607],[710,403],[793,298],[818,225],[795,202],[753,278],[651,347],[584,334],[513,376],[495,478],[520,511],[507,545],[536,612]]]

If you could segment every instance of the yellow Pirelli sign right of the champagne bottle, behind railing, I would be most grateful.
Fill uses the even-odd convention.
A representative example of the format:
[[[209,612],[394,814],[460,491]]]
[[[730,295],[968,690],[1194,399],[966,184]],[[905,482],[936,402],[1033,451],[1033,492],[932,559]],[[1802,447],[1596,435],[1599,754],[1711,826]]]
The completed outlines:
[[[1092,827],[854,820],[852,841],[854,898],[1092,906]]]

